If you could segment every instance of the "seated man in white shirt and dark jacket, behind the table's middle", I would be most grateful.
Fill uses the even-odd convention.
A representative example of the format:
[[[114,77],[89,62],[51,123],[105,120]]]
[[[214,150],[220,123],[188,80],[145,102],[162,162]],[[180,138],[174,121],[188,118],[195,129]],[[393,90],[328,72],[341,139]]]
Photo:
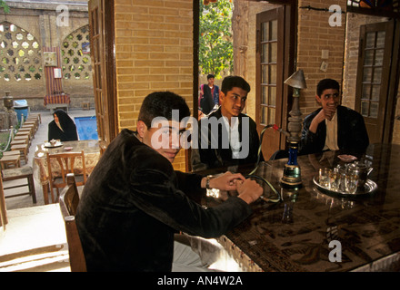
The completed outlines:
[[[250,85],[240,76],[222,82],[221,107],[198,126],[197,146],[192,148],[194,171],[255,163],[260,141],[255,121],[242,114]],[[264,160],[260,152],[260,160]]]

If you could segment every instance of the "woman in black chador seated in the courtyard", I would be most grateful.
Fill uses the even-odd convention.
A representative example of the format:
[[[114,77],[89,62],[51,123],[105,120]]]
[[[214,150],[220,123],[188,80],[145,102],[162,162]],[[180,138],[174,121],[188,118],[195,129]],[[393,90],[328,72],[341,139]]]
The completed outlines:
[[[55,117],[55,120],[48,124],[48,140],[78,140],[75,122],[65,111],[55,110],[53,117]]]

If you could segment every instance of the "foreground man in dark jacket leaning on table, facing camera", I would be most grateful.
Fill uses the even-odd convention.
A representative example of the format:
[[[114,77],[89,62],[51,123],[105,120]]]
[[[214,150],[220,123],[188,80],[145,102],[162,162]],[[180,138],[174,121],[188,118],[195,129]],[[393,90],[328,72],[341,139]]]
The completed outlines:
[[[173,120],[173,110],[179,120]],[[249,204],[263,193],[254,180],[230,172],[210,179],[173,169],[185,131],[181,121],[189,115],[182,97],[153,92],[142,104],[137,131],[121,131],[105,150],[75,217],[88,271],[171,271],[175,233],[219,237],[251,214]],[[157,117],[164,121],[152,123]],[[238,196],[203,208],[196,201],[205,188],[237,190]]]

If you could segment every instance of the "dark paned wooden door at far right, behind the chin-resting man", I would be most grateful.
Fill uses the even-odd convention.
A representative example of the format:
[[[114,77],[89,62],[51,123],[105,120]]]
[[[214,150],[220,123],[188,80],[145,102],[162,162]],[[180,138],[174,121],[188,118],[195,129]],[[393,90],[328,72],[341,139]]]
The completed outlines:
[[[365,120],[370,143],[389,136],[394,97],[389,93],[394,22],[366,24],[360,28],[355,110]],[[389,101],[389,102],[388,102]]]

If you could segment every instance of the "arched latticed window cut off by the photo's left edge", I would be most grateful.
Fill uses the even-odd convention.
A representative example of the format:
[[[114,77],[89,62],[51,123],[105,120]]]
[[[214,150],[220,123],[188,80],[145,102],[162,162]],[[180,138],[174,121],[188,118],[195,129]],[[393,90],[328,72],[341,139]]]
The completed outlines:
[[[3,22],[0,24],[0,82],[42,78],[42,53],[34,35]]]

